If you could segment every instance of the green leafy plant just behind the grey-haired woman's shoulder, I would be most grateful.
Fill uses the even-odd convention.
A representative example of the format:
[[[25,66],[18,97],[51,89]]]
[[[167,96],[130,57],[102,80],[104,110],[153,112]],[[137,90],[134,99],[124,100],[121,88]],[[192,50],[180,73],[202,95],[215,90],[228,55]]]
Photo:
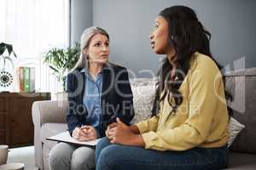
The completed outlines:
[[[73,69],[79,60],[79,55],[80,45],[76,42],[73,48],[52,48],[44,56],[44,63],[54,71],[53,74],[61,82],[64,91],[66,91],[67,72]]]

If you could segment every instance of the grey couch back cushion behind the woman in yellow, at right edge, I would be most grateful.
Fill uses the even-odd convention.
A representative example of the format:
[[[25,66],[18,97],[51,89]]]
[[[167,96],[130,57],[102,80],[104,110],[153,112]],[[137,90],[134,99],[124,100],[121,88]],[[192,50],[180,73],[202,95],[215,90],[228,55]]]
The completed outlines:
[[[226,88],[234,100],[234,117],[245,128],[238,134],[230,150],[256,153],[256,68],[233,71],[226,76]]]

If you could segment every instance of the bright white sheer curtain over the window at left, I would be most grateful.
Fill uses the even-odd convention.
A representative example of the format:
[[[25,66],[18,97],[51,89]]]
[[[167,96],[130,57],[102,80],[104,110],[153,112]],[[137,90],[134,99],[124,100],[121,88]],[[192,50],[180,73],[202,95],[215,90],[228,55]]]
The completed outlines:
[[[36,91],[59,91],[61,83],[43,57],[50,48],[69,44],[69,0],[0,0],[0,8],[0,42],[13,44],[17,54],[14,74],[20,66],[35,67]],[[17,91],[13,84],[10,91]]]

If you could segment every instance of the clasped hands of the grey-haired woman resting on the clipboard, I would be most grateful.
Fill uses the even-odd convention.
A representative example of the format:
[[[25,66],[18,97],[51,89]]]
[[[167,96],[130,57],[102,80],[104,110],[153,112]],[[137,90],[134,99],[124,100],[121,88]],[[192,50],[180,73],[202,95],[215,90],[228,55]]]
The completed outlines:
[[[76,127],[72,133],[73,139],[79,141],[89,141],[97,138],[96,129],[94,127],[85,125],[83,127]]]

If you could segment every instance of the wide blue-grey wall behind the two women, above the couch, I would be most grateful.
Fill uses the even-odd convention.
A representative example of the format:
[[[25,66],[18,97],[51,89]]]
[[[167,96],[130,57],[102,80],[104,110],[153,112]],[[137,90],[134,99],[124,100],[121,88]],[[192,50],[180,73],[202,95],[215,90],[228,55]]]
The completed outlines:
[[[83,2],[86,2],[84,6]],[[93,0],[92,5],[88,5],[90,1],[80,0],[77,4],[76,8],[83,14],[73,18],[73,23],[77,20],[78,29],[73,39],[80,36],[80,30],[90,26],[87,16],[91,16],[94,26],[105,28],[110,34],[111,61],[125,65],[138,77],[150,77],[148,73],[139,72],[143,69],[155,73],[159,68],[160,58],[164,56],[154,54],[148,35],[160,10],[172,5],[195,9],[201,23],[212,33],[212,54],[220,64],[230,65],[233,69],[234,61],[245,56],[247,68],[256,66],[256,1]],[[89,6],[93,8],[91,15]],[[80,27],[79,22],[84,25]]]

